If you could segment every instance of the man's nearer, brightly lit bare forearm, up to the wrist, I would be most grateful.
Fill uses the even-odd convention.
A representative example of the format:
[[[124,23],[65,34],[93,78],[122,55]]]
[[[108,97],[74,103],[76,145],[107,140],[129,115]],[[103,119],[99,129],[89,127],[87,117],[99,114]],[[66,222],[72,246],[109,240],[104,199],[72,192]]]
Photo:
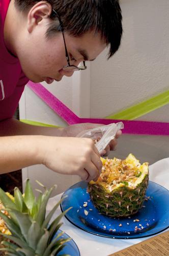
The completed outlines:
[[[0,138],[0,174],[41,164],[39,144],[42,136],[10,136]]]

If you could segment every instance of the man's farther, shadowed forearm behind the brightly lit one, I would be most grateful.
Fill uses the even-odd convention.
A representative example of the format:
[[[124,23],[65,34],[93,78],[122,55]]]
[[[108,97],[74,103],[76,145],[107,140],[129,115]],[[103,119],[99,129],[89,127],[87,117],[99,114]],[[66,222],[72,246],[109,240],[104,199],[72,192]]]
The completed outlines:
[[[42,127],[20,122],[14,118],[0,122],[0,136],[46,135],[62,136],[63,128]]]

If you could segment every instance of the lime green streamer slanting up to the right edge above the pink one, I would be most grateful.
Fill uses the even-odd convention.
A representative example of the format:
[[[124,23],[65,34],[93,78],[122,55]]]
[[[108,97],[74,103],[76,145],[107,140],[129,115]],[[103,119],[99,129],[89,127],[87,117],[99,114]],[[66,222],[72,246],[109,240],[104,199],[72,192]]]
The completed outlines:
[[[169,90],[165,91],[164,93],[158,94],[157,96],[152,97],[148,100],[133,105],[130,108],[120,111],[116,114],[106,116],[106,119],[133,120],[168,103]]]

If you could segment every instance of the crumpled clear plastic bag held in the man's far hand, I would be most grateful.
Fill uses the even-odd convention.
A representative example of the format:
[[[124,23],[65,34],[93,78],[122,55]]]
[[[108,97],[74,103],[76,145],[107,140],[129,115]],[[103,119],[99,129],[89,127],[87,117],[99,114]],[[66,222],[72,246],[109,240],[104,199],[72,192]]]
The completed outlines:
[[[122,122],[110,123],[108,125],[98,126],[94,129],[83,131],[79,133],[77,137],[91,138],[95,140],[95,146],[101,154],[109,142],[115,138],[117,131],[123,128],[124,124]]]

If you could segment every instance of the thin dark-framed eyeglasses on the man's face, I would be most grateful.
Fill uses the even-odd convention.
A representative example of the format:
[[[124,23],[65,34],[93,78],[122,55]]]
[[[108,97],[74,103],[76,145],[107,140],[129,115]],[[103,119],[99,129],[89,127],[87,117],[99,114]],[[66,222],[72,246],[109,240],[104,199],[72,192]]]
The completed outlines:
[[[58,13],[52,9],[52,12],[57,15],[58,19],[59,19],[59,22],[60,22],[60,26],[61,26],[61,31],[62,31],[62,35],[63,35],[63,39],[64,39],[64,45],[65,45],[65,53],[66,53],[66,59],[67,59],[67,62],[68,62],[68,65],[64,66],[63,67],[63,70],[65,71],[78,71],[78,70],[85,70],[87,69],[87,66],[85,65],[85,61],[83,61],[83,66],[75,66],[75,65],[70,65],[70,60],[69,60],[69,55],[68,55],[68,51],[67,51],[67,48],[66,48],[66,42],[65,42],[65,36],[64,36],[64,29],[63,29],[63,25],[62,25],[62,20],[60,18],[60,16],[58,15]],[[52,15],[52,14],[51,14]],[[53,15],[52,15],[53,16]]]

